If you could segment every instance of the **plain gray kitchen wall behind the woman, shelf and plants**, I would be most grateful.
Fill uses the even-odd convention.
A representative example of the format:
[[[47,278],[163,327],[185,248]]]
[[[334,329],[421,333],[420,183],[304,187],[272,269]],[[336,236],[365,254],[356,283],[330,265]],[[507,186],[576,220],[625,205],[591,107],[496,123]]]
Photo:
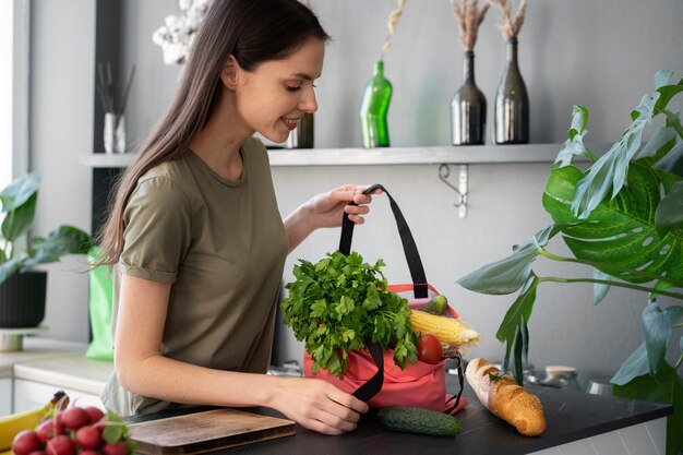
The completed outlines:
[[[34,1],[36,22],[48,13],[72,11],[71,23],[94,17],[86,1]],[[393,0],[313,0],[324,26],[334,40],[327,47],[319,86],[320,110],[315,117],[319,147],[359,146],[357,112],[372,62],[385,37],[385,23]],[[55,11],[52,11],[55,10]],[[151,35],[173,11],[171,0],[124,0],[122,2],[121,72],[137,65],[128,111],[128,135],[141,139],[168,104],[179,69],[165,67],[161,51]],[[480,29],[475,49],[477,83],[491,105],[504,68],[504,41],[495,28],[499,12],[491,10]],[[671,69],[683,75],[683,2],[680,0],[532,1],[519,36],[519,62],[531,100],[531,141],[564,141],[572,105],[590,110],[589,141],[615,141],[628,124],[630,110],[651,91],[655,71]],[[75,24],[74,24],[75,25]],[[55,41],[75,34],[75,26],[55,22],[34,26],[33,157],[49,178],[44,183],[39,206],[40,229],[68,217],[72,223],[88,217],[89,170],[77,167],[79,155],[89,153],[92,131],[92,44],[64,46],[60,56],[75,61],[55,70],[50,64]],[[67,32],[64,32],[67,31]],[[92,31],[87,34],[93,34]],[[386,74],[394,84],[390,129],[394,146],[447,145],[448,103],[462,82],[462,48],[457,25],[446,0],[407,2],[385,58]],[[88,49],[83,49],[83,46]],[[57,71],[59,92],[55,93]],[[68,80],[61,73],[69,73]],[[84,89],[86,87],[87,89]],[[35,94],[39,93],[37,99]],[[61,96],[68,95],[69,103]],[[59,112],[59,113],[57,113]],[[55,119],[61,121],[55,125]],[[490,135],[490,133],[489,133]],[[57,141],[57,142],[56,142]],[[491,142],[489,140],[489,142]],[[40,144],[40,146],[37,146]],[[501,147],[501,153],[505,153]],[[404,208],[416,236],[430,280],[447,295],[462,318],[483,334],[470,356],[499,359],[501,346],[494,334],[513,296],[487,297],[455,285],[464,274],[505,255],[511,247],[527,239],[549,218],[540,204],[548,164],[470,166],[470,209],[457,218],[453,194],[438,179],[436,166],[292,167],[274,168],[280,211],[286,215],[312,194],[345,182],[383,182]],[[73,178],[65,180],[69,172]],[[68,209],[58,202],[70,201]],[[315,232],[289,258],[285,279],[298,258],[316,260],[334,250],[338,230]],[[355,249],[368,260],[384,258],[394,282],[408,279],[399,242],[385,199],[378,197],[373,214],[357,230]],[[562,252],[558,244],[555,251]],[[566,274],[554,264],[539,264],[539,273]],[[573,267],[572,274],[588,271]],[[81,279],[83,277],[79,277]],[[86,332],[75,323],[60,331],[56,313],[82,314],[86,307],[84,282],[53,286],[50,277],[49,335],[84,339]],[[71,279],[76,279],[70,277]],[[67,282],[65,276],[59,280]],[[595,308],[588,286],[541,287],[531,327],[530,360],[537,368],[551,363],[576,366],[580,379],[610,375],[642,342],[639,313],[645,296],[612,290]],[[668,304],[667,301],[663,301]],[[285,332],[284,355],[300,358],[301,346]],[[596,352],[596,354],[592,354]]]

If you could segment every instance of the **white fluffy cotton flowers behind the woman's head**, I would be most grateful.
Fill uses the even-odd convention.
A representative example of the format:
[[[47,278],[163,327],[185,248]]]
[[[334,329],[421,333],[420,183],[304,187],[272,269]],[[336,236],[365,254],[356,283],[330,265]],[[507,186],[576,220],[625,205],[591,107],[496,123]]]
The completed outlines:
[[[166,16],[152,40],[161,46],[164,63],[183,64],[196,31],[213,0],[177,0],[178,14]]]

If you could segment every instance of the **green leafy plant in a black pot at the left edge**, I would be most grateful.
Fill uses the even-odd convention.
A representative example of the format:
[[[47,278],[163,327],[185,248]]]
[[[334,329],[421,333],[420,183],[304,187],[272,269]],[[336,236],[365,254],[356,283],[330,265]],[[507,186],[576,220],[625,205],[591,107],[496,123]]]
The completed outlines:
[[[67,225],[47,238],[29,235],[39,184],[37,173],[27,173],[0,192],[0,328],[35,327],[45,318],[47,272],[32,271],[34,265],[91,247],[91,236]]]

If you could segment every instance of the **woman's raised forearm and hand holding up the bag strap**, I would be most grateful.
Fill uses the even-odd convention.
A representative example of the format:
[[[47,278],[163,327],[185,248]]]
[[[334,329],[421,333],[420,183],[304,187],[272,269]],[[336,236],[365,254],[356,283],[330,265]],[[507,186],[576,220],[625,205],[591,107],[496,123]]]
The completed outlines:
[[[315,229],[342,226],[344,212],[356,224],[364,221],[362,215],[368,214],[368,205],[372,197],[362,194],[368,185],[346,184],[326,193],[317,194],[300,205],[284,219],[289,252],[293,251]],[[373,194],[381,192],[376,190]],[[350,201],[358,205],[348,205]]]

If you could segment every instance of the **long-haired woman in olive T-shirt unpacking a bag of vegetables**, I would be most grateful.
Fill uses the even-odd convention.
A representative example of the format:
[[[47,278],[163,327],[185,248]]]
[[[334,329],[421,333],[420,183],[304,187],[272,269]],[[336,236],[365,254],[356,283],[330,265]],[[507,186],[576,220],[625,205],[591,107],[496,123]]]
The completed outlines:
[[[179,91],[117,190],[101,235],[115,273],[121,415],[182,404],[267,406],[326,434],[368,407],[331,384],[266,372],[285,256],[314,229],[362,223],[346,185],[279,217],[265,147],[317,109],[328,36],[297,0],[216,0]],[[348,205],[354,201],[360,205]]]

